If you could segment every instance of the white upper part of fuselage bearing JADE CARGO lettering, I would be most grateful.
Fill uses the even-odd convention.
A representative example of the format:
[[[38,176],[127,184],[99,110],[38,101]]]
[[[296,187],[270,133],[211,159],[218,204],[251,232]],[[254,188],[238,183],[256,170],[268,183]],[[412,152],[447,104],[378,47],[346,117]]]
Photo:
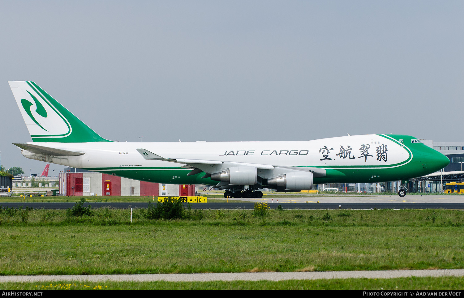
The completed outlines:
[[[137,168],[179,166],[178,163],[144,159],[135,149],[143,148],[172,159],[220,160],[280,166],[362,166],[369,168],[404,164],[410,151],[388,137],[369,134],[310,141],[256,142],[88,142],[30,144],[70,151],[81,156],[57,159],[55,163],[76,168]],[[380,151],[379,151],[380,148]]]

